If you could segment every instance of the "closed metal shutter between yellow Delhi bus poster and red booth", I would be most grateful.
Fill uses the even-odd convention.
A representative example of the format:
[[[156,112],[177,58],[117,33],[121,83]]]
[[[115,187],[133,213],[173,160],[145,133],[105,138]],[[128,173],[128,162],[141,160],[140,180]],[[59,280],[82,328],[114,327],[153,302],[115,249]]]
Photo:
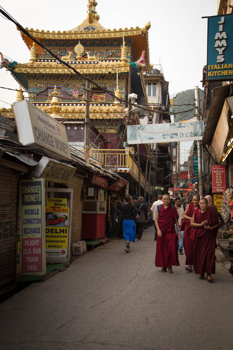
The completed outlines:
[[[83,202],[81,198],[82,188],[83,188],[82,177],[79,177],[75,174],[70,180],[68,187],[73,189],[71,243],[75,243],[82,239],[82,212],[83,212]]]

